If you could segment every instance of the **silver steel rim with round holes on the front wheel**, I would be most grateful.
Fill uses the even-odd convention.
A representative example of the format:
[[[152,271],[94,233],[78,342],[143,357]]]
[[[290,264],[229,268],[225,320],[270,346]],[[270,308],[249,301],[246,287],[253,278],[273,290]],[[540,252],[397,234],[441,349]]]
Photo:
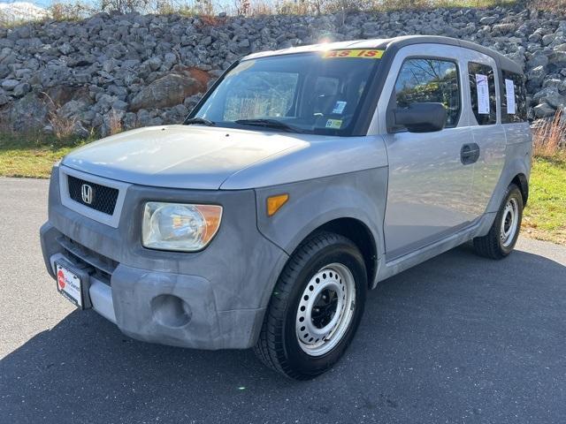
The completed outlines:
[[[303,352],[322,356],[330,352],[349,328],[356,304],[351,271],[331,263],[310,278],[295,317],[295,334]]]

